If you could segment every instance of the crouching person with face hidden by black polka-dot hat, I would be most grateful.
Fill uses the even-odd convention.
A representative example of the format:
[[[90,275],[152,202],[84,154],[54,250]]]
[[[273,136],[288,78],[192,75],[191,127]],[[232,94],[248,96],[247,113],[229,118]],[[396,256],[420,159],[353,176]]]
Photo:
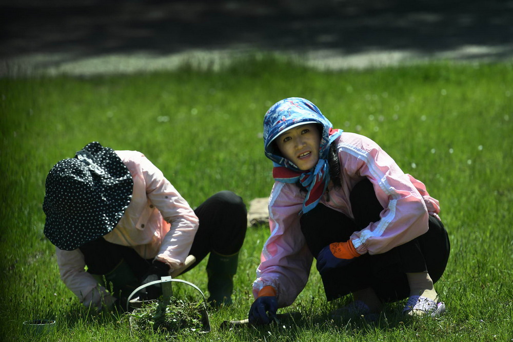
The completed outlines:
[[[187,272],[207,254],[209,303],[232,303],[247,216],[231,191],[193,210],[143,153],[92,142],[52,167],[43,210],[61,279],[86,307],[124,310],[137,287]],[[196,261],[186,268],[189,254]],[[139,298],[161,295],[157,284]]]

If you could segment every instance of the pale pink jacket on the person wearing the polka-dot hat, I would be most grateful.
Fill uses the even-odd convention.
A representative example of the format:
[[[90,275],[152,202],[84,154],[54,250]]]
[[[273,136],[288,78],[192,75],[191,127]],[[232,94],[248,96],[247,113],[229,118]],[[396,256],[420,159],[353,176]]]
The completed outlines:
[[[162,172],[137,151],[116,151],[133,178],[132,200],[117,226],[104,238],[113,244],[130,246],[145,259],[156,257],[171,271],[184,265],[199,220],[187,201]],[[110,296],[84,270],[79,249],[56,248],[57,264],[64,284],[85,306],[101,305]]]

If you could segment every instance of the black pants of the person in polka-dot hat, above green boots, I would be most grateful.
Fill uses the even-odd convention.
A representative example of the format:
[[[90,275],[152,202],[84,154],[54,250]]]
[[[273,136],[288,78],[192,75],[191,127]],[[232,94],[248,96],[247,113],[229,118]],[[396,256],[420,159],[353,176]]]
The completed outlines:
[[[231,191],[218,192],[194,213],[200,226],[189,254],[194,255],[196,261],[187,270],[198,265],[210,251],[229,255],[241,249],[247,227],[246,206],[241,197]],[[109,243],[103,237],[83,245],[80,250],[91,274],[108,274],[124,260],[134,276],[141,280],[153,261],[145,260],[131,247]]]

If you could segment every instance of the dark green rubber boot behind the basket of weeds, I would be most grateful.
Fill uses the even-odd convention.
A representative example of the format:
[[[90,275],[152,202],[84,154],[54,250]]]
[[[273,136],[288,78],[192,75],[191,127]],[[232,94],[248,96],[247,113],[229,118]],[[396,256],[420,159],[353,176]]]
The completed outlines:
[[[208,275],[208,302],[213,307],[231,305],[233,292],[233,276],[237,273],[239,252],[232,255],[223,255],[210,252],[207,263]]]

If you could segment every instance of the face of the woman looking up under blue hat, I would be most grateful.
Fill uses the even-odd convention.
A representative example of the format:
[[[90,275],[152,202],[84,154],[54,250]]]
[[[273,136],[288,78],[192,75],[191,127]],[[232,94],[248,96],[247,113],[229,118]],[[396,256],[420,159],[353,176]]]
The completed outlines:
[[[289,129],[276,138],[282,155],[300,170],[307,171],[319,161],[321,134],[317,124],[305,124]]]

